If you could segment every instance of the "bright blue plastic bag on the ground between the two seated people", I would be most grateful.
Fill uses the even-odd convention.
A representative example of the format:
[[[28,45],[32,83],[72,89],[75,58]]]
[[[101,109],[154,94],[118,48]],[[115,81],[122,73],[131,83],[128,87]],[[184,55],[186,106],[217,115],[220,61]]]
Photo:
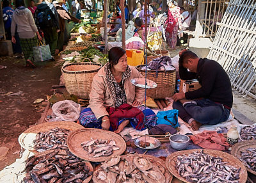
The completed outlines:
[[[180,124],[178,122],[178,113],[179,111],[177,109],[172,109],[169,111],[159,111],[157,113],[157,125],[165,124],[165,125],[171,125],[172,127],[180,127]]]

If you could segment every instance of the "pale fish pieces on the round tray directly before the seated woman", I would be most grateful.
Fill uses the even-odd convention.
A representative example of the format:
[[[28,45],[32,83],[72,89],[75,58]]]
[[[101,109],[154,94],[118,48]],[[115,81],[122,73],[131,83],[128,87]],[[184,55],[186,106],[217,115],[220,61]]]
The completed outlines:
[[[114,150],[120,149],[113,139],[93,139],[81,143],[84,148],[93,157],[108,156],[113,154]]]

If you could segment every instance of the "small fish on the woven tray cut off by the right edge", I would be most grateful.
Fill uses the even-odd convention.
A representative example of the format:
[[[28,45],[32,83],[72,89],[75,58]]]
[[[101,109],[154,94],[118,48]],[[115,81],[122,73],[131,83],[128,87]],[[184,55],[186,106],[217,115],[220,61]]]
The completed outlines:
[[[247,148],[241,150],[241,157],[239,159],[248,167],[250,170],[256,171],[256,148]]]

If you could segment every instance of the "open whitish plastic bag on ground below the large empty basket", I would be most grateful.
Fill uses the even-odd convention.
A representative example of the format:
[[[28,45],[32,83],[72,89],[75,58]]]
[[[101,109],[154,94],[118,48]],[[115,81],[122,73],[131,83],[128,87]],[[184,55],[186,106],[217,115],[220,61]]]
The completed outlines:
[[[79,118],[81,111],[80,104],[72,100],[63,100],[56,102],[52,106],[52,118],[51,122],[56,121],[70,121],[74,122]]]

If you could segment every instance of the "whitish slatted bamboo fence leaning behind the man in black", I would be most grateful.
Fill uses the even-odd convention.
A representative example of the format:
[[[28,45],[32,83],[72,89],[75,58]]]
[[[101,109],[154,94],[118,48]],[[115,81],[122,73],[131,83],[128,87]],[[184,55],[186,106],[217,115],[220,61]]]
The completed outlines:
[[[256,3],[231,0],[207,56],[228,73],[233,88],[256,99]]]

